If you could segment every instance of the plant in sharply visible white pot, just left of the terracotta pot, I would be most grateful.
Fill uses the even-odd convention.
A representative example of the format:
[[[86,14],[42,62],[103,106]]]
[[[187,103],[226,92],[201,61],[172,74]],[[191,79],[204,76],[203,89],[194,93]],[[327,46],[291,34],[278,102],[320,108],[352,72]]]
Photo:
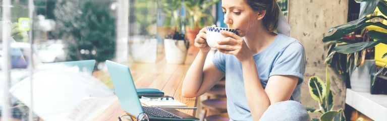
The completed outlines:
[[[163,26],[157,27],[157,32],[163,37],[165,59],[167,63],[184,64],[189,43],[184,37],[184,31],[182,31],[184,27],[183,3],[181,0],[160,0],[157,2],[161,9],[158,17],[160,23],[158,24],[163,24]]]

